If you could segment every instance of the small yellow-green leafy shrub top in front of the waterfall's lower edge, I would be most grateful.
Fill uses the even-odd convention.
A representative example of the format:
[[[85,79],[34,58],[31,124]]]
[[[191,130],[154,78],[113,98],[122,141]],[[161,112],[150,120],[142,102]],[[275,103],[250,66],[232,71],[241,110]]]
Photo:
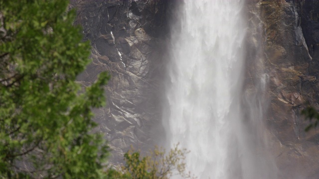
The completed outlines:
[[[162,148],[155,147],[147,156],[141,157],[139,152],[129,150],[125,155],[126,165],[123,176],[118,179],[169,179],[174,175],[182,178],[194,178],[185,171],[186,149],[179,149],[176,145],[167,154]],[[118,173],[119,174],[119,173]]]

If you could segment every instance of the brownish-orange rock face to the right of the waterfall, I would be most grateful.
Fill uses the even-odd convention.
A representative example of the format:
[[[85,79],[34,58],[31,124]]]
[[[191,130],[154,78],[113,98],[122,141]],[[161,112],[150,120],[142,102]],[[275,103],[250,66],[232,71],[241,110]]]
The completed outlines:
[[[246,93],[267,99],[264,120],[280,179],[317,179],[319,138],[300,114],[318,108],[319,30],[316,0],[248,1]],[[253,91],[253,92],[252,92]]]

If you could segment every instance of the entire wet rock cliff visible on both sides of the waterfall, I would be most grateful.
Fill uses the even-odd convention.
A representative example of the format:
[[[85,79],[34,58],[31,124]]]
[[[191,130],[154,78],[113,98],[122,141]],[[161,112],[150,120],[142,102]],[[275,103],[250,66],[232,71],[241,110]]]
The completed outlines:
[[[76,24],[93,47],[92,64],[78,81],[89,85],[102,71],[112,76],[107,107],[95,112],[114,163],[130,145],[143,150],[164,135],[159,101],[176,2],[71,0]],[[319,108],[319,2],[247,0],[247,12],[244,98],[254,96],[253,105],[263,109],[259,124],[267,128],[279,178],[318,178],[318,133],[304,132],[300,111],[308,104]]]

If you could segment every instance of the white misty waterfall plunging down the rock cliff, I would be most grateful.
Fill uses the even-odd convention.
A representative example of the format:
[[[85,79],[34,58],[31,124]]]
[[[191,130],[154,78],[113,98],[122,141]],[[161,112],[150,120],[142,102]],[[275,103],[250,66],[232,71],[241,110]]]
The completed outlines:
[[[199,179],[274,177],[256,152],[254,130],[247,129],[253,125],[245,126],[244,5],[185,0],[171,25],[163,125],[170,147],[179,143],[190,150],[187,170]]]

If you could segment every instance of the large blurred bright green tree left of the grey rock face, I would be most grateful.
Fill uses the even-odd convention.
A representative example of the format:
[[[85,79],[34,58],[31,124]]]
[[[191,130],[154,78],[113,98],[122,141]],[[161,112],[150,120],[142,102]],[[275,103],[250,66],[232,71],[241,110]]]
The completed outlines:
[[[90,44],[66,0],[0,0],[0,178],[103,177],[108,155],[91,132],[108,75],[81,89]]]

